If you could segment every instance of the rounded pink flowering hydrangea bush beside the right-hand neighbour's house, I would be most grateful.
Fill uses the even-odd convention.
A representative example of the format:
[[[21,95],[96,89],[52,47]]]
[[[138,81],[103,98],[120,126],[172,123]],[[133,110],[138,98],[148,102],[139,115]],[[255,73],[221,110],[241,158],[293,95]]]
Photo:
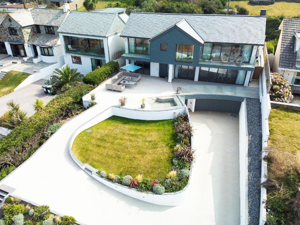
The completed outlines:
[[[271,73],[272,86],[270,90],[270,100],[275,102],[291,103],[294,96],[289,82],[279,73]]]

